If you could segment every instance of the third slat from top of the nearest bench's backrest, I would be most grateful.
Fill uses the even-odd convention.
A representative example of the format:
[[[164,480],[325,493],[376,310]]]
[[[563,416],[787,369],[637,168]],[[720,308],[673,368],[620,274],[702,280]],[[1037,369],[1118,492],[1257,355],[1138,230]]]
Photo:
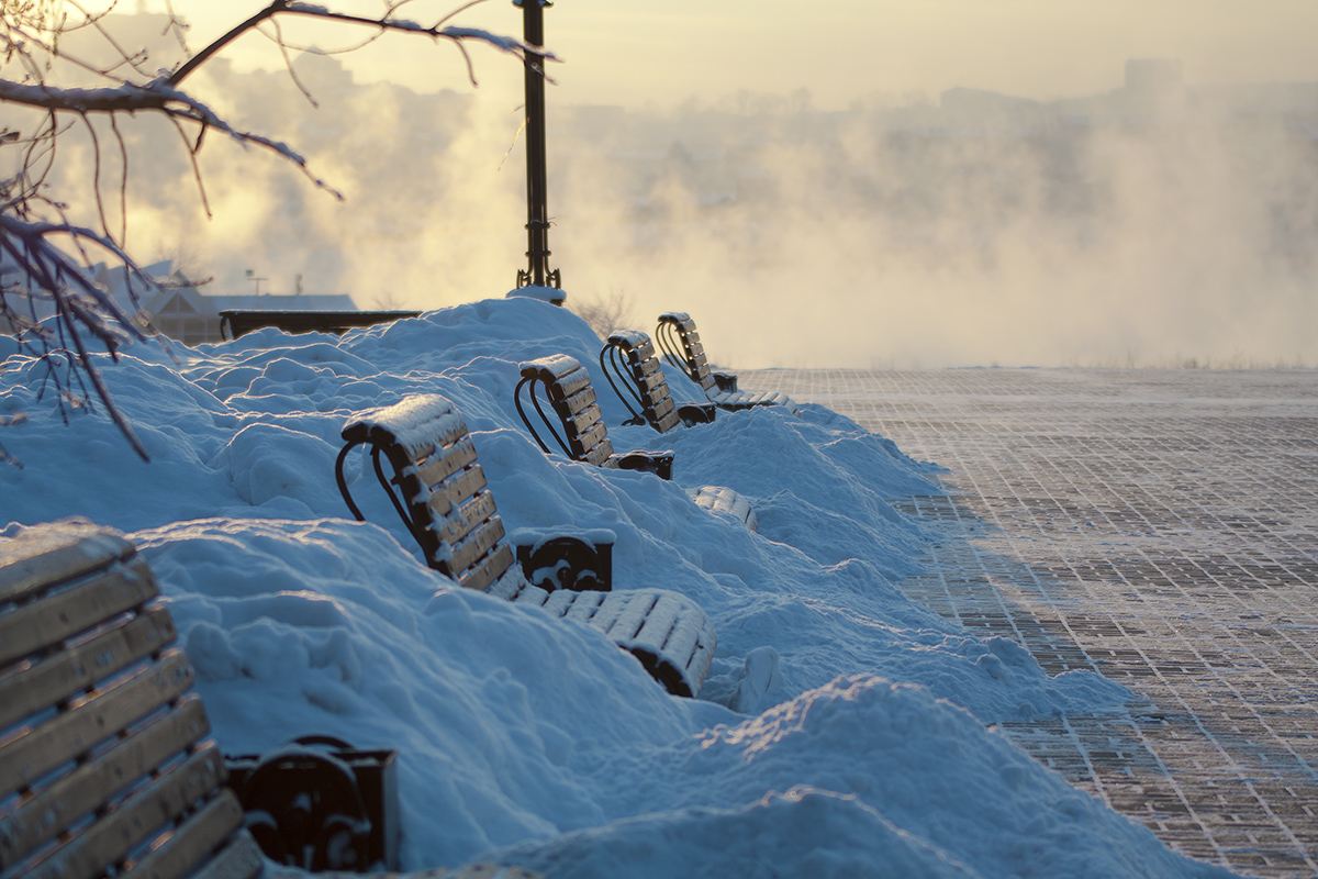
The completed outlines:
[[[0,729],[45,705],[62,702],[103,677],[173,643],[178,634],[165,608],[149,608],[128,623],[29,664],[0,679]]]

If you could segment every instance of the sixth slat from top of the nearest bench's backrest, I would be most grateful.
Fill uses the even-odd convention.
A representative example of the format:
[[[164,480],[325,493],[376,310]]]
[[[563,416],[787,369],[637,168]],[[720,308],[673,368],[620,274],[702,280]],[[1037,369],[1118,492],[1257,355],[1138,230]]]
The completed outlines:
[[[211,746],[194,754],[41,861],[29,872],[29,878],[96,879],[107,865],[123,862],[144,842],[159,837],[186,809],[217,788],[223,778],[224,759],[217,749]],[[243,807],[227,788],[198,817],[210,816],[216,803],[225,801],[229,805],[220,807],[220,821],[211,830],[216,838],[210,849],[243,824]]]

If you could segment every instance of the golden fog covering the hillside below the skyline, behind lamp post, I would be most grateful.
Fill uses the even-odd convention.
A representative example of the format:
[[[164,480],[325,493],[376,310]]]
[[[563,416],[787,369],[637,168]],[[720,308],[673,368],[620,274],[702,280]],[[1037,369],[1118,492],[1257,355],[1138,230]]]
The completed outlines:
[[[252,293],[250,269],[262,293],[361,307],[510,289],[526,249],[515,103],[295,66],[319,108],[287,72],[224,61],[194,91],[344,200],[212,134],[207,220],[178,134],[136,120],[121,130],[138,258],[181,260],[215,293]],[[569,306],[613,300],[645,329],[689,311],[713,357],[743,368],[1318,362],[1318,84],[1199,84],[1170,61],[1045,103],[974,84],[845,111],[805,90],[625,109],[550,88],[551,265]],[[70,134],[66,194],[92,174]],[[111,202],[116,173],[101,169]]]

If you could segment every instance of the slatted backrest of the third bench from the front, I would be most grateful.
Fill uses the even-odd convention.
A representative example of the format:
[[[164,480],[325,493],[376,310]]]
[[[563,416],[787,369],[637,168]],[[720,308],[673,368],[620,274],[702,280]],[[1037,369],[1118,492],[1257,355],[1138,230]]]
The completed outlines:
[[[554,439],[558,440],[563,453],[573,461],[585,461],[596,467],[606,467],[613,456],[613,443],[609,441],[608,428],[600,414],[596,402],[594,386],[590,383],[590,373],[568,354],[552,354],[531,360],[521,366],[522,381],[514,391],[517,412],[522,416],[531,436],[548,453],[550,447],[540,439],[535,424],[526,415],[522,406],[522,391],[527,391],[535,411]],[[558,415],[558,422],[563,426],[564,436],[554,427],[554,422],[544,414],[540,406],[540,397],[548,401]]]

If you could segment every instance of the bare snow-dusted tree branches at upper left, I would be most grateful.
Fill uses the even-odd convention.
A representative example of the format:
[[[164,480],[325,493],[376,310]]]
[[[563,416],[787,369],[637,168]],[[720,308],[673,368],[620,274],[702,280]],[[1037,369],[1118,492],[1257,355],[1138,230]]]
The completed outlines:
[[[208,130],[225,134],[241,146],[256,146],[272,152],[293,163],[318,188],[335,198],[343,196],[328,183],[311,173],[303,156],[289,145],[253,130],[229,124],[227,119],[206,103],[185,91],[182,84],[225,46],[248,32],[257,32],[278,47],[289,74],[298,88],[315,104],[311,94],[299,82],[293,69],[281,21],[283,18],[320,20],[364,28],[372,33],[361,42],[366,45],[385,34],[420,34],[435,42],[451,43],[463,55],[468,76],[476,83],[468,42],[490,46],[511,54],[523,62],[531,57],[558,61],[539,46],[527,46],[521,40],[502,37],[477,28],[451,25],[452,17],[484,0],[471,0],[440,17],[432,25],[423,25],[399,16],[399,11],[413,0],[382,0],[382,14],[377,17],[335,12],[327,7],[301,0],[270,0],[269,5],[250,16],[217,40],[208,43],[173,72],[153,75],[146,71],[148,54],[121,45],[109,32],[105,16],[113,9],[90,12],[82,0],[0,0],[0,61],[20,67],[22,74],[0,72],[0,104],[28,107],[40,111],[41,117],[26,137],[0,132],[0,148],[22,152],[21,170],[9,181],[0,181],[0,264],[17,278],[0,283],[0,322],[18,339],[21,347],[37,352],[46,373],[42,393],[47,386],[57,391],[57,406],[65,420],[71,410],[90,409],[96,399],[105,409],[115,426],[144,460],[146,451],[132,426],[115,405],[105,385],[98,358],[91,347],[108,352],[111,361],[129,340],[142,340],[150,331],[141,319],[138,295],[159,289],[148,278],[125,250],[128,236],[128,177],[129,154],[120,117],[142,113],[166,119],[178,132],[182,148],[191,162],[199,199],[207,217],[211,206],[202,179],[198,156]],[[187,54],[186,26],[174,14],[166,0],[169,25],[179,46]],[[74,11],[71,18],[69,11]],[[265,22],[270,28],[262,28]],[[112,54],[104,65],[88,63],[62,46],[63,38],[75,32],[94,33]],[[312,50],[320,51],[320,50]],[[343,50],[340,50],[343,51]],[[335,54],[322,51],[322,54]],[[543,63],[536,63],[542,67]],[[542,71],[543,72],[543,71]],[[59,84],[61,75],[72,74],[92,86]],[[67,79],[65,82],[69,82]],[[96,83],[105,83],[96,86]],[[61,116],[66,116],[62,120]],[[113,146],[103,142],[96,121],[107,119]],[[92,153],[91,210],[99,228],[76,225],[69,219],[69,207],[47,190],[51,171],[59,158],[58,142],[70,125],[80,124],[90,138]],[[194,136],[195,127],[195,136]],[[119,211],[115,223],[107,210],[103,177],[103,149],[119,150]],[[111,166],[113,167],[113,166]],[[87,200],[87,199],[83,199]],[[98,285],[91,274],[94,254],[104,254],[124,266],[128,306],[115,302],[109,291]],[[47,311],[50,314],[47,314]],[[0,423],[3,427],[5,423]],[[0,463],[12,459],[0,447]]]

